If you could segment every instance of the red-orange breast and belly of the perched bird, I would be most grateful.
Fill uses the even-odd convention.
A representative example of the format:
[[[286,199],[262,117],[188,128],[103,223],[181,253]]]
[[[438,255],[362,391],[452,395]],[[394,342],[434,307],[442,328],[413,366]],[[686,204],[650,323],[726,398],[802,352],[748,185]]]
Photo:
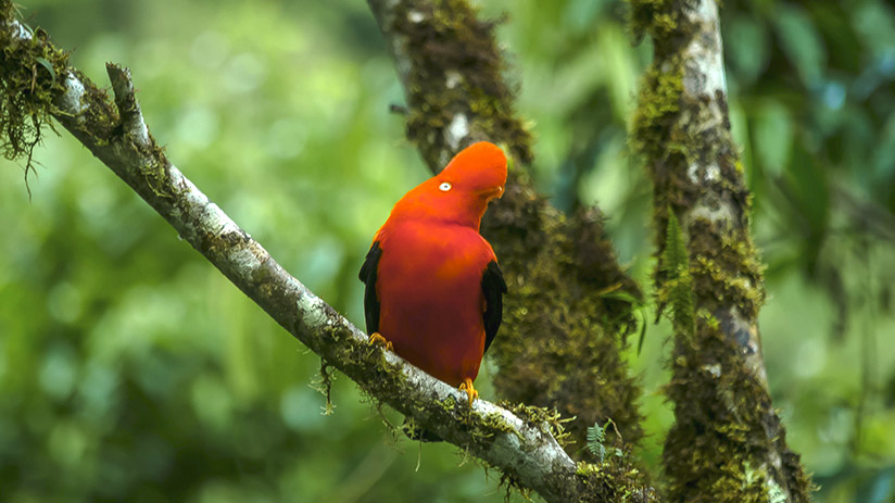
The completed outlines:
[[[491,246],[458,225],[405,222],[377,239],[379,331],[402,357],[458,386],[475,379],[484,349],[482,273]]]

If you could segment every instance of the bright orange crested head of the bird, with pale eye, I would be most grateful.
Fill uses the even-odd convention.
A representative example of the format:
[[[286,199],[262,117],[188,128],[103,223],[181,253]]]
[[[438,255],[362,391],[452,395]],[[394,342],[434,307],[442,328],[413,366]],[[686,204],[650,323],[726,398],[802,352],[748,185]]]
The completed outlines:
[[[480,141],[401,198],[392,217],[451,222],[478,230],[488,203],[503,196],[505,185],[506,156],[494,143]]]

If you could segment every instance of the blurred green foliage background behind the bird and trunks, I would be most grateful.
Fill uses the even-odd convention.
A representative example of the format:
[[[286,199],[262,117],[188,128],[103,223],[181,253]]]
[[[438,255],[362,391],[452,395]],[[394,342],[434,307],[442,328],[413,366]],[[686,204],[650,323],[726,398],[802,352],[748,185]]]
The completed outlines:
[[[402,91],[365,2],[21,3],[94,81],[129,66],[171,160],[363,323],[369,239],[427,177],[389,112]],[[618,1],[480,3],[508,14],[497,34],[539,188],[564,210],[597,203],[648,285],[651,188],[626,122],[650,43],[631,43]],[[895,10],[727,0],[722,32],[774,404],[817,501],[895,501]],[[36,156],[30,200],[22,166],[0,163],[0,501],[503,500],[499,474],[390,433],[400,417],[346,378],[324,415],[318,357],[67,134]],[[654,468],[668,335],[651,325],[628,354]]]

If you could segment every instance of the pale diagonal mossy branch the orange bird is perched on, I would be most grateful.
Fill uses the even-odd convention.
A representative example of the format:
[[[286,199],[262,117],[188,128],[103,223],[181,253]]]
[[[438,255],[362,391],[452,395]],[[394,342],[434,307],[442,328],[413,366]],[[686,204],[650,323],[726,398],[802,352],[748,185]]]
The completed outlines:
[[[11,40],[50,43],[22,29],[8,2],[1,11],[4,49]],[[9,85],[11,75],[30,72],[36,53],[5,58],[3,85]],[[628,501],[654,501],[654,491],[636,486],[621,463],[576,464],[554,437],[560,430],[551,424],[554,415],[526,406],[510,412],[483,400],[469,407],[458,390],[370,345],[361,330],[290,276],[167,160],[149,134],[127,70],[106,66],[113,103],[80,72],[64,61],[54,63],[60,87],[35,100],[24,113],[55,118],[272,318],[375,400],[413,417],[417,425],[500,469],[509,483],[537,491],[549,502],[615,501],[622,493]]]

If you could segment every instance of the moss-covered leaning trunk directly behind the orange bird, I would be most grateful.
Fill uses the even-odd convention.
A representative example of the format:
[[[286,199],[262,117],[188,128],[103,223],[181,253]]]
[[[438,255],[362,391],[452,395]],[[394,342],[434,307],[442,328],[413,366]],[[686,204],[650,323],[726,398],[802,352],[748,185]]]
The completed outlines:
[[[556,407],[584,455],[587,428],[613,419],[625,439],[643,436],[640,386],[621,357],[642,297],[619,266],[596,209],[565,215],[540,197],[522,165],[532,139],[516,114],[515,90],[494,38],[467,0],[368,0],[394,59],[407,101],[407,138],[437,172],[478,140],[504,146],[515,161],[503,199],[482,235],[507,277],[504,327],[490,354],[497,393]],[[612,292],[614,294],[607,294]]]

